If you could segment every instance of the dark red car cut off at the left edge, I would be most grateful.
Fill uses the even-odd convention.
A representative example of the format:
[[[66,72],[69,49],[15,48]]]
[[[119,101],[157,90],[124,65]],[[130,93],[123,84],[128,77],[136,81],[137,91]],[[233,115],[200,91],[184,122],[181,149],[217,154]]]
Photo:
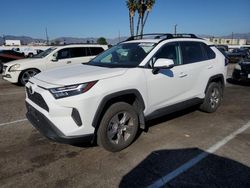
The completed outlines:
[[[23,53],[15,52],[13,50],[0,51],[0,73],[2,73],[3,65],[7,62],[25,58]]]

